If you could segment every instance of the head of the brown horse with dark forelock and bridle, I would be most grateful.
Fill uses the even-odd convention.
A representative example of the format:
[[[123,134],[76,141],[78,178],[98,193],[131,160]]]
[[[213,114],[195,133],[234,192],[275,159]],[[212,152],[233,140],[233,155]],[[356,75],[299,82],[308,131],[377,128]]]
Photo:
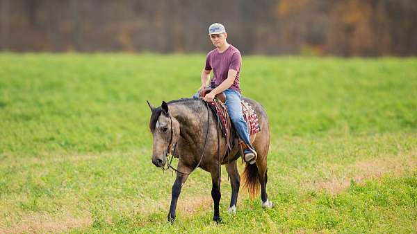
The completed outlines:
[[[152,132],[153,148],[152,163],[158,168],[163,168],[167,163],[167,153],[172,150],[179,139],[179,123],[175,119],[166,102],[161,107],[155,108],[147,102],[152,111],[149,128]]]

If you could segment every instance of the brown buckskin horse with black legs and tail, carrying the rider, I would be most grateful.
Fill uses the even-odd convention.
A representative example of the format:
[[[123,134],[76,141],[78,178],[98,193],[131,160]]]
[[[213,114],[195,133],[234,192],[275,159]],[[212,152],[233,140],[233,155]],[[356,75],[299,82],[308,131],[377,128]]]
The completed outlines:
[[[270,128],[265,109],[255,100],[243,98],[254,109],[258,116],[261,131],[250,136],[252,146],[257,152],[256,163],[245,164],[243,171],[244,188],[250,198],[259,195],[261,187],[261,206],[272,208],[268,199],[266,183],[268,182],[267,156],[270,145]],[[149,129],[152,132],[152,163],[158,168],[169,168],[167,155],[177,155],[177,176],[172,185],[170,210],[167,215],[169,222],[174,223],[175,210],[181,188],[188,175],[197,168],[210,172],[212,189],[211,197],[214,203],[213,221],[220,222],[220,172],[225,165],[231,183],[231,199],[229,213],[236,213],[236,202],[240,187],[240,176],[237,159],[241,156],[238,139],[229,154],[227,144],[218,126],[217,116],[208,109],[208,104],[200,98],[181,98],[170,102],[163,101],[161,107],[154,107],[148,101],[151,109]],[[219,134],[220,131],[220,134]],[[171,158],[172,160],[172,158]],[[175,170],[175,169],[174,169]]]

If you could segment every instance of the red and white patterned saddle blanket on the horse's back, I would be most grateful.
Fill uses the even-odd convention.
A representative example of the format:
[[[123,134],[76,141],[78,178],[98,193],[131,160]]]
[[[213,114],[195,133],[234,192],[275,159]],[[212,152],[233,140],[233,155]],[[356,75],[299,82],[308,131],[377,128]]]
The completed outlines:
[[[250,135],[261,132],[261,128],[259,127],[258,116],[256,116],[254,109],[252,109],[249,103],[245,102],[244,100],[242,100],[241,103],[243,118],[245,118],[247,124],[247,132],[249,132]],[[213,102],[208,102],[208,105],[218,116],[219,125],[222,129],[222,134],[226,138],[227,147],[229,147],[229,149],[231,150],[231,120],[229,118],[229,113],[227,112],[226,105],[224,105],[217,98],[215,98]]]

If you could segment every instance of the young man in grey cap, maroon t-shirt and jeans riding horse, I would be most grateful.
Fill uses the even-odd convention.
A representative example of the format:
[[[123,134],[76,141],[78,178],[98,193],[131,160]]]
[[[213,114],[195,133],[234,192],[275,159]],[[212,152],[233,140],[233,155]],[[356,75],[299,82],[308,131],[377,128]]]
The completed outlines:
[[[227,33],[222,24],[212,24],[208,27],[208,36],[215,46],[213,51],[208,52],[206,57],[206,66],[204,67],[201,78],[202,86],[198,92],[206,88],[207,80],[213,70],[212,82],[215,82],[216,88],[204,96],[206,102],[212,102],[215,95],[224,92],[226,95],[226,106],[229,111],[231,122],[236,128],[239,137],[251,149],[244,152],[245,161],[254,163],[256,152],[250,143],[249,133],[245,119],[243,118],[242,106],[240,100],[239,71],[242,57],[240,51],[227,43]],[[198,97],[198,92],[193,96]]]

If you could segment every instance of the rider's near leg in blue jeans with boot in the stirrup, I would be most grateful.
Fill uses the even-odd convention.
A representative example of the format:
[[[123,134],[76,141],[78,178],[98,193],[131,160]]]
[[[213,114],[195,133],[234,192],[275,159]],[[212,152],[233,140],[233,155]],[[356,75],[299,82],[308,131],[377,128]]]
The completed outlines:
[[[242,105],[240,103],[240,93],[231,89],[227,89],[224,91],[224,94],[226,94],[227,111],[229,111],[230,120],[236,128],[236,132],[238,132],[239,137],[248,147],[252,147],[249,133],[247,131],[247,124],[245,118],[243,118]],[[254,150],[254,147],[252,147],[252,150]],[[244,154],[245,155],[243,156],[245,157],[245,161],[254,163],[256,152],[245,150]]]

